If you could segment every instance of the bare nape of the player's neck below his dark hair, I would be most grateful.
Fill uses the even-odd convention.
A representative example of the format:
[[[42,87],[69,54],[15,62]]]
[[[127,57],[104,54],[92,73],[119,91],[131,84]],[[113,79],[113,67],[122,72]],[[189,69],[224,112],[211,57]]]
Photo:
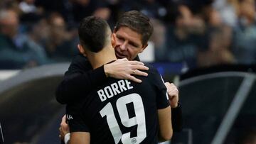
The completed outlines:
[[[87,58],[94,70],[107,64],[107,62],[117,60],[114,54],[114,48],[103,48],[100,52],[90,53],[90,55],[87,55]]]

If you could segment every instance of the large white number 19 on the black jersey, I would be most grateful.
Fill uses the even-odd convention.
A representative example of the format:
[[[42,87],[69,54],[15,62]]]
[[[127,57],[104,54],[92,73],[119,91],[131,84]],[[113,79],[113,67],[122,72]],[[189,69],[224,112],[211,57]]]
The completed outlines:
[[[129,118],[128,110],[126,104],[133,103],[135,116]],[[144,138],[146,138],[146,123],[145,123],[145,112],[142,102],[142,97],[139,94],[128,94],[117,99],[117,111],[121,118],[121,122],[125,127],[131,127],[137,125],[137,136],[131,137],[131,133],[122,133],[119,125],[117,123],[117,118],[114,116],[114,110],[111,103],[107,105],[100,111],[102,118],[107,116],[107,124],[114,138],[114,143],[141,143]]]

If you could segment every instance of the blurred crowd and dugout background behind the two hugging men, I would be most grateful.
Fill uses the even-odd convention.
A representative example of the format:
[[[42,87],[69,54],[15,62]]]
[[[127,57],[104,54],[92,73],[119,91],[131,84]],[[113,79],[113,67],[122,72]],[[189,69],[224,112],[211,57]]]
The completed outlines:
[[[154,24],[142,61],[179,89],[183,131],[171,143],[256,143],[254,0],[1,0],[5,143],[59,142],[54,91],[78,52],[78,22],[101,16],[113,28],[133,9]],[[14,33],[11,47],[2,30]]]

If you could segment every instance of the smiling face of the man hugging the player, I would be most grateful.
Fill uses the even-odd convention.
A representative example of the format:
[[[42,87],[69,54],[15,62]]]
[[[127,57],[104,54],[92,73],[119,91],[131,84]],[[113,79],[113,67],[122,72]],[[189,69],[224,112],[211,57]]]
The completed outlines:
[[[132,31],[127,27],[121,27],[118,31],[114,31],[113,37],[115,39],[114,51],[117,58],[127,58],[134,60],[134,58],[142,52],[147,45],[142,45],[142,35]]]

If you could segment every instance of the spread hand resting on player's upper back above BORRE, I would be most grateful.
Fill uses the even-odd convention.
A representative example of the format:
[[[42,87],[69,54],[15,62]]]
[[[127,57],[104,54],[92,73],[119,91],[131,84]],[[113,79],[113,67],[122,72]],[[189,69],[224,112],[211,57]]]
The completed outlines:
[[[134,82],[142,82],[141,79],[137,79],[132,76],[141,75],[147,76],[146,72],[142,72],[141,70],[149,70],[149,67],[144,66],[144,63],[139,61],[129,61],[127,58],[116,60],[110,64],[104,65],[105,74],[107,77],[114,77],[116,79],[129,79]]]

